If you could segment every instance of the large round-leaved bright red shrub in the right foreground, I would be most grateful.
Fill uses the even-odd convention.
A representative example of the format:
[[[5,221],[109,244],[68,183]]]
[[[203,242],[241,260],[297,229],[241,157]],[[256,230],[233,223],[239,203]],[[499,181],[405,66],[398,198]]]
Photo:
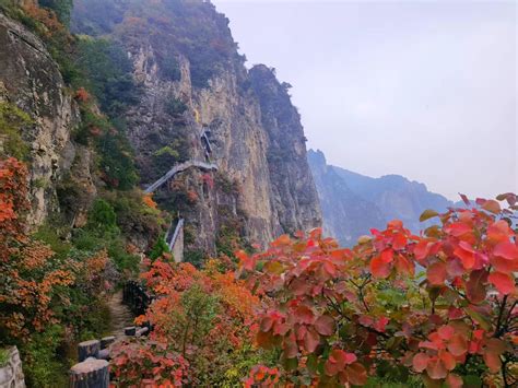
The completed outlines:
[[[363,386],[368,376],[417,376],[460,387],[517,384],[517,197],[437,216],[421,235],[392,221],[351,249],[319,230],[239,252],[262,295],[257,342],[279,349],[286,384]],[[469,203],[467,203],[469,204]],[[473,367],[475,372],[473,372]]]

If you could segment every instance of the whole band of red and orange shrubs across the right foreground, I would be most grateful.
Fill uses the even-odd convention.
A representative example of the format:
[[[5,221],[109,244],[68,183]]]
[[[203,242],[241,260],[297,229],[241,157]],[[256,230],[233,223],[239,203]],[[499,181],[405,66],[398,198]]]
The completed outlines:
[[[421,236],[392,221],[351,249],[315,230],[237,267],[149,262],[157,299],[138,321],[152,342],[120,345],[118,380],[233,386],[248,369],[249,387],[515,386],[518,198],[499,199],[426,211],[440,223]]]

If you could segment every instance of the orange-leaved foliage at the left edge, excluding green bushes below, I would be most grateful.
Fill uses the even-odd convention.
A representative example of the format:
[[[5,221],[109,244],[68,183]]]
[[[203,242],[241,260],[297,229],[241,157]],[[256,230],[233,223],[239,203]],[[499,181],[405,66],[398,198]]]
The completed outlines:
[[[105,251],[85,261],[61,260],[25,227],[27,168],[9,158],[0,161],[0,330],[23,341],[33,331],[56,322],[58,290],[72,285],[79,275],[92,287],[108,261]]]

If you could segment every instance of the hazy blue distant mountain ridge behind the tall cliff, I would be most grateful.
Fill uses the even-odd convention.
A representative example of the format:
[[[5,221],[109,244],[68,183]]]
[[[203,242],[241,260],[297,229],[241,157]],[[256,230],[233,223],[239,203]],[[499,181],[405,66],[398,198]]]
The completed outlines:
[[[395,219],[417,233],[429,225],[419,221],[424,210],[440,212],[456,204],[400,175],[372,178],[328,165],[321,151],[309,150],[308,161],[320,199],[325,233],[344,246],[354,245],[370,228],[384,228]]]

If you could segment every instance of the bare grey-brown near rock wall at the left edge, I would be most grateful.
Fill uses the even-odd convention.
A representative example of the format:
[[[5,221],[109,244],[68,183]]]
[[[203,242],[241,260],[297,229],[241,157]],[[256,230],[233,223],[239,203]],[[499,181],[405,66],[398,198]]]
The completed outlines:
[[[30,164],[32,210],[28,217],[42,224],[58,208],[56,189],[67,173],[73,171],[82,190],[95,193],[89,173],[90,153],[70,141],[79,111],[67,93],[58,66],[45,45],[21,24],[0,13],[0,107],[2,126],[0,149],[12,133],[3,133],[9,111],[28,113],[19,133],[28,144],[23,155]],[[21,148],[23,143],[17,146]]]

